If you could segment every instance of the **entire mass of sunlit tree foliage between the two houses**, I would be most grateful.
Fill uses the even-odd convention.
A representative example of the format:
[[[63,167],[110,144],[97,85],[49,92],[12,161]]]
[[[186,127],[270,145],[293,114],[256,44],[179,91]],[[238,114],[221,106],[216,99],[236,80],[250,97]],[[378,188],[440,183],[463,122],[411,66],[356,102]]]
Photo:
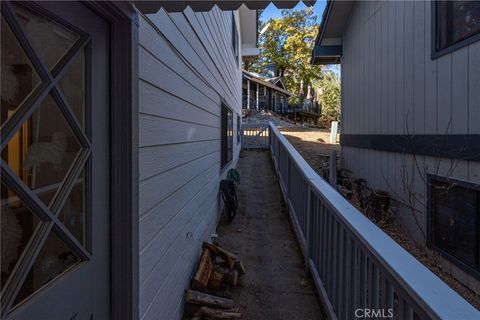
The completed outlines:
[[[266,28],[268,24],[268,27]],[[315,37],[318,32],[317,17],[312,8],[283,10],[282,17],[259,24],[260,55],[245,67],[264,74],[267,66],[277,67],[276,76],[282,76],[286,89],[294,94],[289,104],[300,106],[298,96],[300,81],[304,83],[304,94],[311,85],[312,92],[321,88],[318,97],[322,105],[322,120],[325,123],[340,118],[340,78],[335,72],[310,64]]]

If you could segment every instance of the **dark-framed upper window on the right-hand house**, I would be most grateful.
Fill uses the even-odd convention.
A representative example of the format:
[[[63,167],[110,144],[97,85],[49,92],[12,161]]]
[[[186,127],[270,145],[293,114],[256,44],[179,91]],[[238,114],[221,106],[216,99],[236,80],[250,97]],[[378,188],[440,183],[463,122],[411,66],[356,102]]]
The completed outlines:
[[[480,39],[480,1],[438,1],[434,12],[433,57]]]

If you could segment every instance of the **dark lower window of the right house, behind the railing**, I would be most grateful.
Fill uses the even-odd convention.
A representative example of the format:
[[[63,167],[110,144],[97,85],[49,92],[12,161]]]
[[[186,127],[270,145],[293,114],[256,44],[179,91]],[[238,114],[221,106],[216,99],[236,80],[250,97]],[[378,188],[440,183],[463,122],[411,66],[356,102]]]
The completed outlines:
[[[429,239],[454,262],[480,271],[480,186],[429,177]]]

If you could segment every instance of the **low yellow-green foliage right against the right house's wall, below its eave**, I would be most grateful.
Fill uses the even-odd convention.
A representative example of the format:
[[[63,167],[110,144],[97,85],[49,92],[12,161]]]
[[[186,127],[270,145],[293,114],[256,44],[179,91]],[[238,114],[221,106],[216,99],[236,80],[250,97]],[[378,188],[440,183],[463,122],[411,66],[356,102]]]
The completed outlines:
[[[333,71],[325,71],[319,80],[313,82],[314,88],[321,88],[318,101],[322,106],[322,118],[325,122],[340,118],[340,78]]]

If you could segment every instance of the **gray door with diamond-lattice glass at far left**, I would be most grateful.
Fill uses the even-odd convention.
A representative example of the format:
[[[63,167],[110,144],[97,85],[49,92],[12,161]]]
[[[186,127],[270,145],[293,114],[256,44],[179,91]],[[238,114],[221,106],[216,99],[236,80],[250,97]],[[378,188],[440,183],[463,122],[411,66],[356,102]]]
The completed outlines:
[[[1,318],[108,319],[109,26],[1,11]]]

